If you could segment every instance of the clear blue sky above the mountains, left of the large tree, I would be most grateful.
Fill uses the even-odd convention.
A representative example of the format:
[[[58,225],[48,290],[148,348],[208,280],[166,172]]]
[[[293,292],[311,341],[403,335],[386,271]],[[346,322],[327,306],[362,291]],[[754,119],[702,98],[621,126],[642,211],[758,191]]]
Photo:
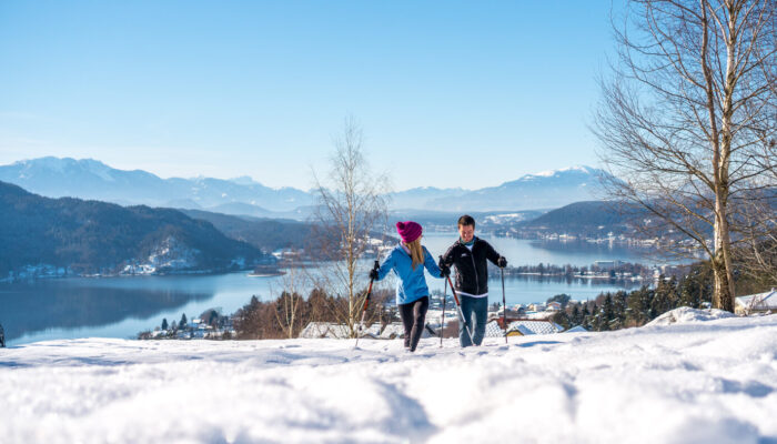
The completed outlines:
[[[395,190],[596,165],[598,1],[0,1],[0,164],[311,183],[346,115]]]

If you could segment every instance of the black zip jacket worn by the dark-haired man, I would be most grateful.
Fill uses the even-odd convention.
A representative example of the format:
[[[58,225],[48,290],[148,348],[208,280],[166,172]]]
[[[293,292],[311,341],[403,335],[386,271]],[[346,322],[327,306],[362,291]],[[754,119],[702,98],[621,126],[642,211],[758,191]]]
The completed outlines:
[[[486,259],[494,265],[500,260],[500,254],[491,244],[475,238],[472,251],[461,240],[456,241],[443,255],[443,262],[451,266],[456,265],[456,291],[470,294],[483,294],[488,292],[488,266]]]

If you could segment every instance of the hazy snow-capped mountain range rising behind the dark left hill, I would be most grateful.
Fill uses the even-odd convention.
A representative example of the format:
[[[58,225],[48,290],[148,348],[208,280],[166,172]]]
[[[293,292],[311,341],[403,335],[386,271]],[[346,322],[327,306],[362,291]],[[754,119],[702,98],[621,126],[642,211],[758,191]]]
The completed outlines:
[[[312,202],[304,191],[272,189],[251,178],[161,179],[142,170],[117,170],[92,159],[24,160],[0,167],[0,181],[50,198],[73,196],[152,206],[213,208],[242,203],[271,211],[291,211]]]

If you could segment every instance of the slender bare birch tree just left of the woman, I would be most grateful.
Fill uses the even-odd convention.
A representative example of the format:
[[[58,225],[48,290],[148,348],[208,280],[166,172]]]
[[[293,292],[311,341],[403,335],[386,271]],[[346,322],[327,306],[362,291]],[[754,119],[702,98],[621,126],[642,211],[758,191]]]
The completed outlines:
[[[330,300],[331,313],[352,335],[356,334],[370,269],[369,261],[360,260],[373,248],[374,233],[385,232],[387,221],[387,179],[370,171],[363,144],[362,129],[346,118],[334,139],[329,180],[313,173],[319,202],[312,253],[321,260],[316,286],[335,296]]]

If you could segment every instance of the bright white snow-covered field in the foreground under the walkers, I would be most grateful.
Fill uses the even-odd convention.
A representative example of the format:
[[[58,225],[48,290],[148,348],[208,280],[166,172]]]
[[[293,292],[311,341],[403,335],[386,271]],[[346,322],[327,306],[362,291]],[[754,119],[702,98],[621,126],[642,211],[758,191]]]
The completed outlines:
[[[488,339],[0,349],[2,443],[777,443],[777,315]]]

